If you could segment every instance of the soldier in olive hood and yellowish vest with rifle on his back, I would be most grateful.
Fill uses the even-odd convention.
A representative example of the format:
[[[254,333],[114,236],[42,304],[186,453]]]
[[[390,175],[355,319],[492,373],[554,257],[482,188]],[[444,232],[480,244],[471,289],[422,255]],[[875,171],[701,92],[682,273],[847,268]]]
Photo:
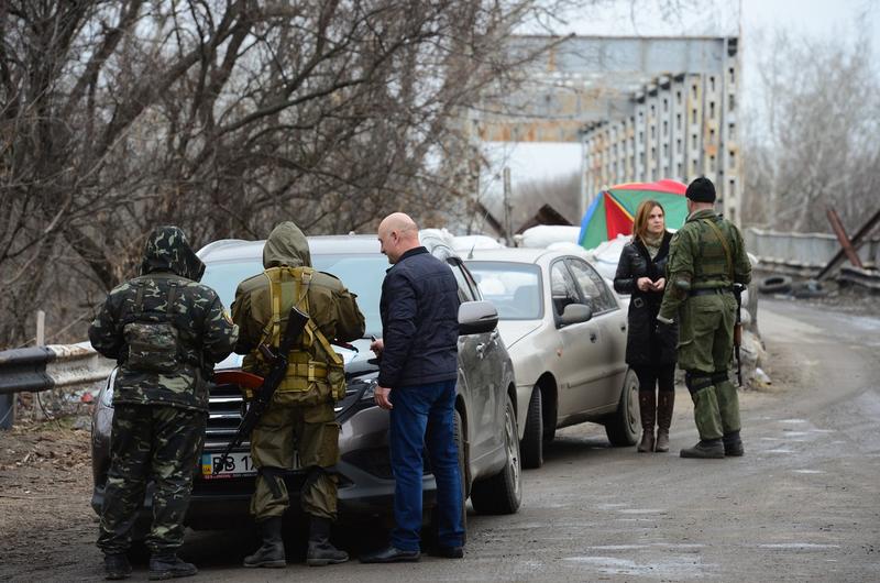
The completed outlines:
[[[364,317],[356,296],[332,275],[310,267],[308,242],[296,224],[278,224],[263,249],[265,271],[245,279],[235,290],[232,320],[241,333],[235,352],[246,354],[243,369],[264,376],[268,364],[257,346],[278,348],[290,307],[309,315],[309,323],[288,355],[287,375],[273,395],[265,415],[251,436],[251,454],[257,470],[251,514],[260,525],[263,544],[244,559],[245,566],[280,568],[286,564],[282,516],[289,506],[284,474],[299,465],[307,470],[300,491],[302,510],[310,518],[306,562],[326,565],[348,560],[330,543],[337,517],[339,424],[333,400],[345,394],[341,358],[330,341],[348,342],[364,334]]]

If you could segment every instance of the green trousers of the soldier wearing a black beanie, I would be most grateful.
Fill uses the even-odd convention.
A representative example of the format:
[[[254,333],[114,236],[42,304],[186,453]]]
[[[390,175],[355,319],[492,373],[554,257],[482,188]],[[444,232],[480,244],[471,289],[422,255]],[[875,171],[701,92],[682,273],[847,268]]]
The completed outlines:
[[[700,439],[739,431],[739,398],[728,373],[736,324],[734,295],[688,298],[680,314],[679,367],[686,372]]]

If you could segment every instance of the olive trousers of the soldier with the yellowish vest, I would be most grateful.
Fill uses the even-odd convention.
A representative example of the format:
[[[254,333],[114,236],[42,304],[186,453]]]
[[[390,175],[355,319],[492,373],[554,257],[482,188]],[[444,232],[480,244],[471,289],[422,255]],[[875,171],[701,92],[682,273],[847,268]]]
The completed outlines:
[[[339,461],[339,424],[332,402],[302,406],[273,402],[251,436],[251,455],[257,468],[251,514],[256,521],[282,516],[290,505],[283,474],[298,466],[307,469],[300,505],[309,516],[337,517],[337,476],[331,469]]]

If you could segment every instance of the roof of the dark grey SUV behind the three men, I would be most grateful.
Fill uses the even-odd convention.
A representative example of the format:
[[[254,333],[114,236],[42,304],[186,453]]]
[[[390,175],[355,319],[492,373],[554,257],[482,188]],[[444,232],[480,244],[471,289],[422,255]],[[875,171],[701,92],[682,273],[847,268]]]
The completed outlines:
[[[346,255],[380,253],[378,239],[374,234],[331,234],[306,238],[312,255]],[[208,243],[198,251],[198,256],[206,263],[261,260],[263,258],[263,241],[245,241],[243,239],[221,239]],[[446,258],[458,256],[451,248],[436,239],[426,239],[422,244],[436,256]]]

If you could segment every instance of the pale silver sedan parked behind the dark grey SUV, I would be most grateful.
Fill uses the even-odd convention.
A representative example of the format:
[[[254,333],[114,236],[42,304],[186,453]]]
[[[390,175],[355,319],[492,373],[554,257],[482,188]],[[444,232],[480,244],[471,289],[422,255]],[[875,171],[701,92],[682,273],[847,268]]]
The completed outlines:
[[[627,315],[583,257],[543,249],[475,250],[465,261],[514,363],[520,455],[540,468],[557,428],[605,426],[612,446],[640,427],[638,380],[624,361]]]

